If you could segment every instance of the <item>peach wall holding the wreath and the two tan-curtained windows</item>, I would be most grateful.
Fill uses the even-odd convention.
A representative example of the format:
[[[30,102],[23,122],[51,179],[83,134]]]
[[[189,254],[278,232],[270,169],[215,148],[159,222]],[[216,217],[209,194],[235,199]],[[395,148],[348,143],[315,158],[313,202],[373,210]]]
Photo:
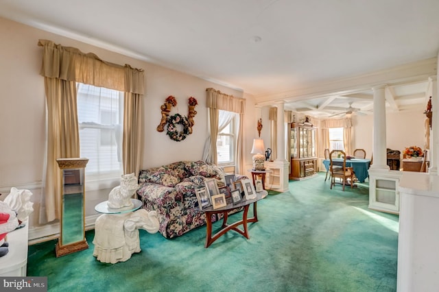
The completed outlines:
[[[102,60],[130,64],[145,70],[142,168],[177,160],[202,159],[204,142],[208,136],[206,88],[209,87],[247,99],[244,129],[248,135],[244,141],[244,158],[251,165],[250,150],[254,133],[257,132],[252,95],[244,96],[239,90],[3,18],[0,18],[0,36],[3,40],[0,47],[0,192],[3,196],[0,199],[9,193],[12,186],[31,189],[36,209],[34,217],[37,217],[41,198],[46,119],[44,79],[39,75],[42,48],[37,45],[38,39],[77,47],[83,52],[95,53]],[[193,134],[185,141],[172,141],[165,132],[156,131],[161,120],[160,106],[169,95],[174,95],[178,101],[178,106],[171,113],[179,112],[184,115],[187,115],[187,99],[190,96],[198,99]],[[108,197],[108,191],[113,186],[97,193],[89,192],[86,197],[97,202],[102,201]],[[95,213],[93,206],[94,204],[86,204],[86,215]]]

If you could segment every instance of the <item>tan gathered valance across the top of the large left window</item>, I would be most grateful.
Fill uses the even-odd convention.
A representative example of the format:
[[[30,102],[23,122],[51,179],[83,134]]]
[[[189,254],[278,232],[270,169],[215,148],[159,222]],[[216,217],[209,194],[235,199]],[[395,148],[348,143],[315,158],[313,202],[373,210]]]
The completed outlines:
[[[105,62],[94,53],[82,53],[73,47],[56,45],[51,40],[39,40],[43,47],[43,66],[40,74],[60,80],[93,84],[114,90],[145,93],[145,72],[126,64]]]

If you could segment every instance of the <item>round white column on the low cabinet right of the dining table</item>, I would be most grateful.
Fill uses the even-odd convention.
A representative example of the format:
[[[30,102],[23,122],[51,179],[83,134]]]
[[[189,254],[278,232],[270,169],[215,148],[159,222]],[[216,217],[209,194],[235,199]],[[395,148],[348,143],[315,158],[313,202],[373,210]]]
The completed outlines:
[[[385,132],[385,85],[373,89],[373,164],[371,169],[387,169],[387,136]]]

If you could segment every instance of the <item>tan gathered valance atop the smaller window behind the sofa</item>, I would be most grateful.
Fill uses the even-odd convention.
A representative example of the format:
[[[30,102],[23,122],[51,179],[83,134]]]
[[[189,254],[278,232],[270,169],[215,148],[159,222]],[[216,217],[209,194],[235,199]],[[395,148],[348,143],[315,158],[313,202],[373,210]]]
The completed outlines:
[[[206,106],[208,108],[244,114],[246,109],[246,99],[237,98],[233,95],[226,95],[213,88],[207,88],[206,91]]]

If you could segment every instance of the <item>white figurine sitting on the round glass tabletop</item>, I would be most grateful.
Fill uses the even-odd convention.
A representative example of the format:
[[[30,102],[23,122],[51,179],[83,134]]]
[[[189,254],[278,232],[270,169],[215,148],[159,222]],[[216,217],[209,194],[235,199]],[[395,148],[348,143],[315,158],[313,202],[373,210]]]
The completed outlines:
[[[121,184],[110,191],[108,207],[120,209],[132,206],[131,197],[137,191],[137,178],[134,173],[121,175]]]

